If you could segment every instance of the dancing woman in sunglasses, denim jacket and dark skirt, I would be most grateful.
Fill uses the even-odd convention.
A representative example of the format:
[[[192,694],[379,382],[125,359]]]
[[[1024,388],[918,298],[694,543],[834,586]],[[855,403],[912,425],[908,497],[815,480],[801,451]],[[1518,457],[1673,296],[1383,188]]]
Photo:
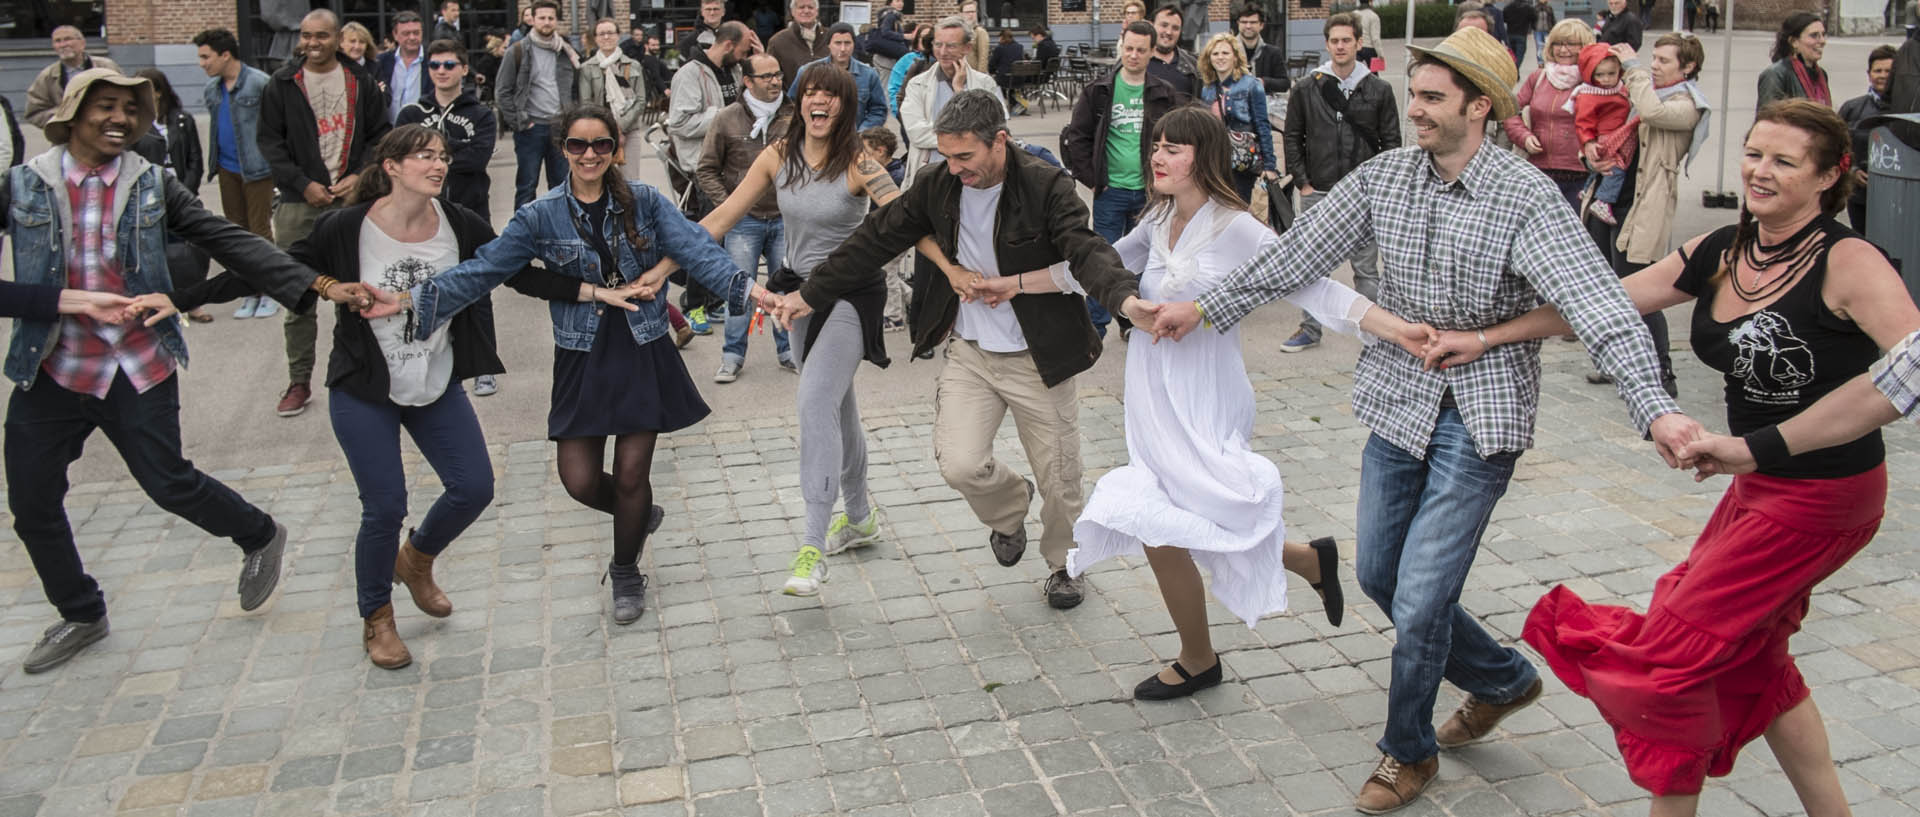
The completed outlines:
[[[576,104],[553,134],[566,153],[566,184],[520,207],[499,238],[472,259],[434,276],[384,311],[411,309],[415,336],[428,336],[480,295],[540,259],[588,284],[589,303],[551,303],[553,405],[547,437],[559,449],[561,483],[582,504],[612,514],[612,619],[634,623],[645,610],[639,550],[659,527],[653,508],[653,445],[707,418],[680,351],[668,338],[662,282],[641,272],[672,257],[733,315],[747,311],[753,278],[680,215],[666,196],[620,175],[620,127],[612,111]],[[641,297],[641,301],[630,301]],[[609,307],[624,309],[611,311]],[[618,318],[618,320],[616,320]],[[612,437],[612,474],[601,470]]]

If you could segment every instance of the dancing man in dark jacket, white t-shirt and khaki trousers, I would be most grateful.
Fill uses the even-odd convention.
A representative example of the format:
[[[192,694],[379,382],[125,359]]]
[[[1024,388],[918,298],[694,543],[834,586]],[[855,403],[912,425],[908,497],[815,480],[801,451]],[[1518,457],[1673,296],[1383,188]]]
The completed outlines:
[[[947,161],[922,169],[899,199],[870,215],[814,267],[799,297],[804,309],[828,309],[885,290],[883,265],[933,236],[952,265],[916,288],[922,307],[910,318],[916,355],[947,345],[933,456],[991,529],[995,558],[1012,568],[1027,550],[1035,493],[993,456],[1000,418],[1014,412],[1044,501],[1046,602],[1071,608],[1081,583],[1068,577],[1066,558],[1087,504],[1073,376],[1100,359],[1081,295],[1116,313],[1133,307],[1135,316],[1148,316],[1148,309],[1119,255],[1087,226],[1073,180],[1010,148],[1006,109],[993,90],[954,94],[933,130]],[[968,292],[964,303],[956,290]]]

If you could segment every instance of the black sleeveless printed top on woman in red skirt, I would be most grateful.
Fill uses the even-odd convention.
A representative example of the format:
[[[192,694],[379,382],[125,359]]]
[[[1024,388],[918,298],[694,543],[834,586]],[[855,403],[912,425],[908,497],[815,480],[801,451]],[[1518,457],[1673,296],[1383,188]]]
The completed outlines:
[[[1859,238],[1822,217],[1826,247],[1801,280],[1753,315],[1720,322],[1713,318],[1718,286],[1713,274],[1734,244],[1736,226],[1711,232],[1682,259],[1686,268],[1674,288],[1697,297],[1693,305],[1693,353],[1726,376],[1726,424],[1747,433],[1799,414],[1837,389],[1880,357],[1874,338],[1853,320],[1834,315],[1820,297],[1828,255],[1839,240]],[[1728,272],[1732,274],[1732,270]],[[1763,474],[1793,479],[1834,479],[1872,470],[1887,456],[1880,432],[1832,449],[1809,451]]]

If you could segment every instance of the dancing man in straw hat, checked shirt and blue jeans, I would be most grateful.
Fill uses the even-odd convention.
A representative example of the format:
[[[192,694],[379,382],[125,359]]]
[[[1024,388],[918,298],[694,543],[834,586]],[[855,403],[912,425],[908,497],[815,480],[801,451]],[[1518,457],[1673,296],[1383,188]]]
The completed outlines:
[[[1413,54],[1417,148],[1354,169],[1225,284],[1196,303],[1165,305],[1154,334],[1177,339],[1202,320],[1225,330],[1375,242],[1380,307],[1407,320],[1475,332],[1542,299],[1559,307],[1672,466],[1672,451],[1701,426],[1661,389],[1640,313],[1553,184],[1486,138],[1488,119],[1515,109],[1507,48],[1467,29]],[[1494,502],[1532,445],[1538,405],[1538,343],[1486,349],[1444,370],[1394,343],[1359,355],[1354,412],[1373,435],[1361,455],[1356,575],[1396,631],[1382,758],[1359,811],[1413,802],[1438,771],[1440,748],[1486,736],[1540,696],[1532,664],[1459,606]],[[1436,733],[1442,677],[1471,698]]]

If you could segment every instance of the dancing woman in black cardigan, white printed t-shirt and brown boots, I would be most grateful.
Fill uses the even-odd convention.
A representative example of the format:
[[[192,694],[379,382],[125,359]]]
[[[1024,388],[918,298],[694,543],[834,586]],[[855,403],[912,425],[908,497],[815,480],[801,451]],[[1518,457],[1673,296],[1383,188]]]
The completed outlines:
[[[440,199],[447,163],[447,142],[438,130],[424,125],[388,130],[374,142],[371,163],[361,171],[357,203],[323,215],[313,234],[288,253],[323,276],[384,292],[445,274],[493,240],[482,215]],[[553,301],[593,295],[593,288],[540,268],[526,268],[509,284]],[[167,295],[140,295],[134,307],[157,311],[148,318],[156,322],[175,305],[190,309],[248,293],[246,284],[228,272],[175,292],[171,301]],[[346,307],[338,311],[326,361],[326,408],[361,497],[353,573],[361,642],[378,667],[399,669],[413,662],[394,625],[396,581],[407,585],[420,612],[434,618],[453,614],[453,602],[434,581],[434,560],[493,501],[493,464],[461,382],[503,370],[493,334],[480,326],[472,311],[430,332],[415,332],[405,316],[365,318]],[[405,539],[401,430],[445,487]]]

